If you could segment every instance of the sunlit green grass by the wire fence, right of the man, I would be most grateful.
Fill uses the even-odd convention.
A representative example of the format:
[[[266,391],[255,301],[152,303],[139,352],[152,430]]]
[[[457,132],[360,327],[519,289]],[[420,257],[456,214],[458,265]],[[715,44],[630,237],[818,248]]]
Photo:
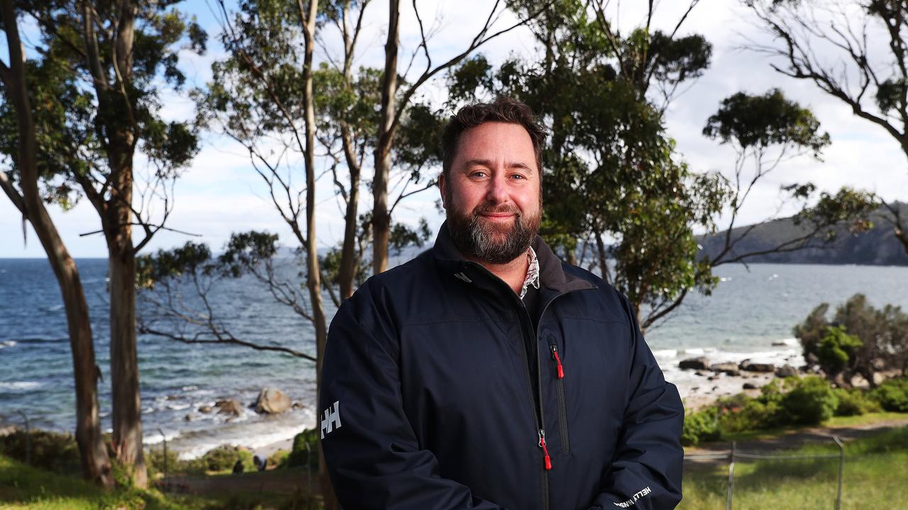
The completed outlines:
[[[811,445],[785,455],[837,455],[834,445]],[[834,508],[837,458],[735,461],[735,510]],[[842,508],[908,509],[908,427],[845,445]],[[685,466],[681,510],[725,507],[727,463]]]

